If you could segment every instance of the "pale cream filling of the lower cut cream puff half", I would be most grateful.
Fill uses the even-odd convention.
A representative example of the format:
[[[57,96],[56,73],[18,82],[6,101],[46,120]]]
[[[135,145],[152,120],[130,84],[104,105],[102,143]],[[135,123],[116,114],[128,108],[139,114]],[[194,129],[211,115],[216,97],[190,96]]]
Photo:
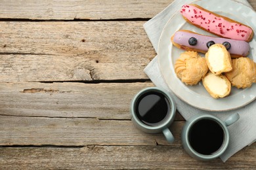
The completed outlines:
[[[217,95],[224,95],[228,90],[228,85],[226,84],[226,81],[223,80],[223,78],[221,78],[220,76],[209,74],[205,76],[204,82],[209,90]]]

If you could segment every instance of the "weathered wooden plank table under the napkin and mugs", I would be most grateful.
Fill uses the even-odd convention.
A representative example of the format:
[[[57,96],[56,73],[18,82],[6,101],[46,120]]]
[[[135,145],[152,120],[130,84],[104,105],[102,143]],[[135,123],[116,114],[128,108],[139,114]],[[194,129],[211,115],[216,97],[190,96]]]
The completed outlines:
[[[226,163],[133,126],[156,56],[142,25],[171,1],[2,1],[0,169],[254,169],[256,143]],[[256,9],[256,1],[249,0]]]

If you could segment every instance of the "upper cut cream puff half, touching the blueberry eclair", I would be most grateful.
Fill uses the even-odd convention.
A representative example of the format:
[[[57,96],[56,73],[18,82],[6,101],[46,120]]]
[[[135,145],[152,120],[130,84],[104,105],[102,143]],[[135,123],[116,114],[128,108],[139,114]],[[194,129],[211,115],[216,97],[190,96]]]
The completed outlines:
[[[205,54],[209,70],[214,75],[220,75],[232,70],[232,61],[229,52],[223,44],[213,44]]]

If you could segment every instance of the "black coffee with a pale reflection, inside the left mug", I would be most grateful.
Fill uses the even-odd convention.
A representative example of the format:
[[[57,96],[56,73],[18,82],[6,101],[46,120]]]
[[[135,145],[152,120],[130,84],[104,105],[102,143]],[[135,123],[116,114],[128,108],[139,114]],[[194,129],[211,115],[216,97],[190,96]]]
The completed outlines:
[[[146,92],[135,104],[135,112],[141,122],[148,126],[161,124],[170,112],[169,100],[160,92]]]

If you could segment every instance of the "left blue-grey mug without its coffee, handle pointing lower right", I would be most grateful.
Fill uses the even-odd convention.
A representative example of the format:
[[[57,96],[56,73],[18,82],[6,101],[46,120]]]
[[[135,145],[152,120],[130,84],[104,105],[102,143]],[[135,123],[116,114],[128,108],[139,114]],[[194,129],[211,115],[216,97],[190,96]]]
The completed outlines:
[[[148,125],[144,124],[143,122],[140,121],[140,119],[137,117],[137,114],[135,112],[135,105],[138,102],[139,97],[141,95],[143,95],[144,93],[152,92],[152,91],[160,92],[163,95],[165,95],[165,97],[169,101],[169,105],[171,106],[169,113],[167,113],[167,116],[165,116],[165,120],[163,122],[161,122],[161,124],[158,124],[157,126],[148,126]],[[157,88],[157,87],[145,88],[145,89],[141,90],[139,93],[137,93],[135,95],[135,97],[133,97],[133,99],[131,101],[130,113],[131,113],[131,120],[132,120],[133,124],[135,124],[135,126],[138,129],[140,129],[141,131],[144,131],[146,133],[163,132],[163,135],[165,135],[165,139],[169,143],[173,143],[173,141],[175,140],[173,137],[173,134],[169,130],[169,126],[171,126],[171,124],[173,123],[173,120],[175,118],[176,105],[175,105],[175,102],[172,99],[171,95],[167,91],[165,91],[161,88]]]

